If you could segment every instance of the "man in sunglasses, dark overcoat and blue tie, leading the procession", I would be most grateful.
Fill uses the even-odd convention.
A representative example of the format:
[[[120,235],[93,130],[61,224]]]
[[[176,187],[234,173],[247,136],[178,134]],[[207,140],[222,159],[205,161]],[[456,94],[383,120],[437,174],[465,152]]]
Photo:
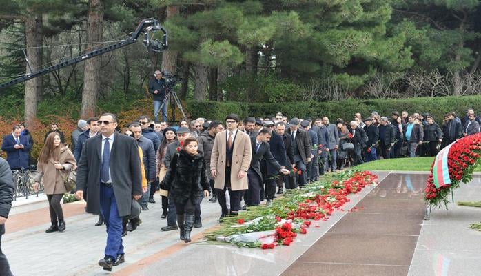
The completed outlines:
[[[85,141],[76,177],[76,198],[86,191],[87,213],[105,217],[107,245],[99,265],[108,271],[125,260],[122,220],[131,213],[132,198],[143,193],[139,146],[132,137],[115,132],[117,124],[111,113],[100,117],[101,135]]]

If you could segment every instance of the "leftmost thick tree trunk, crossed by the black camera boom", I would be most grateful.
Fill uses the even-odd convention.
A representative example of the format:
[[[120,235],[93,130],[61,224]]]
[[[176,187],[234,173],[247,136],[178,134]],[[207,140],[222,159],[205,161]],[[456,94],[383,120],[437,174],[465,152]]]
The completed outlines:
[[[32,13],[31,13],[32,14]],[[41,69],[42,66],[42,17],[26,17],[25,39],[27,42],[26,54],[32,71]],[[32,48],[37,47],[37,48]],[[31,72],[27,64],[27,72]],[[31,127],[37,117],[37,102],[42,99],[42,78],[36,77],[25,81],[25,125]]]

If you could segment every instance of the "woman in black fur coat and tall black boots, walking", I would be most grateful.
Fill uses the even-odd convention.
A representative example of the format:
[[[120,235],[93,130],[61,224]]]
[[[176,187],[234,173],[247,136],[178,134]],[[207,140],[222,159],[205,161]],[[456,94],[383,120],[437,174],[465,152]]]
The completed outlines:
[[[197,139],[185,139],[182,148],[179,147],[178,153],[172,157],[167,175],[161,183],[161,188],[173,195],[181,239],[186,243],[190,242],[190,231],[194,226],[195,206],[201,203],[202,197],[210,194],[204,157],[197,149]]]

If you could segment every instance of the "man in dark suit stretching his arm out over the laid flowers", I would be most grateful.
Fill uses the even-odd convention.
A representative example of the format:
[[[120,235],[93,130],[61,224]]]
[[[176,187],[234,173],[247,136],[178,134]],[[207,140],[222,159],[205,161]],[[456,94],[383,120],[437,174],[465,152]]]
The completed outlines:
[[[251,138],[252,159],[249,170],[247,170],[249,188],[244,195],[245,204],[247,204],[247,206],[256,206],[260,204],[260,185],[263,183],[262,173],[260,172],[260,161],[262,159],[265,159],[267,164],[274,166],[278,172],[284,173],[285,175],[289,174],[289,170],[282,168],[278,161],[272,156],[269,146],[271,135],[270,130],[267,128],[261,128],[258,131],[257,136]],[[270,204],[272,201],[267,199],[267,202]]]

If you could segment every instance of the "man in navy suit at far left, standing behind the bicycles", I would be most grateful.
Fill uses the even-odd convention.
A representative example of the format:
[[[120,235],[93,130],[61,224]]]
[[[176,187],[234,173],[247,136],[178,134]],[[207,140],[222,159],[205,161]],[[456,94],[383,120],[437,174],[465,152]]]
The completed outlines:
[[[28,152],[31,147],[28,138],[21,135],[19,126],[14,126],[12,133],[3,137],[1,144],[1,150],[7,152],[7,161],[12,170],[28,168]]]

